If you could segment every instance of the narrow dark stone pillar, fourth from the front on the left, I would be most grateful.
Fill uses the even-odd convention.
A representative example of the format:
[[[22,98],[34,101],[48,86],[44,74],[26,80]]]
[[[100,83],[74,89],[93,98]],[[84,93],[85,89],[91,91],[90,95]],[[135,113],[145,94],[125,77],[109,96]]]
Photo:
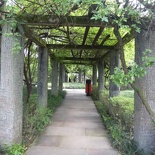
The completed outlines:
[[[64,65],[60,63],[59,68],[59,90],[62,91],[64,82]]]

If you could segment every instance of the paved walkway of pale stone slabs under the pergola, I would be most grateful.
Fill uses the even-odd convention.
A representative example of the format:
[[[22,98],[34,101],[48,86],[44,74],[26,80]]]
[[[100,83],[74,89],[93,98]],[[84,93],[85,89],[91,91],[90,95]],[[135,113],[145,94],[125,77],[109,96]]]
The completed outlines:
[[[67,90],[52,123],[26,155],[117,155],[84,90]]]

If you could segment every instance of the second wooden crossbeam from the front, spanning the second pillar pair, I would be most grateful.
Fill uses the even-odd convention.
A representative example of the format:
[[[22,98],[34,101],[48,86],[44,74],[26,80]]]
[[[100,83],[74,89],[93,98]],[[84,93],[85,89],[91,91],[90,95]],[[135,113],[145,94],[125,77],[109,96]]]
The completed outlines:
[[[112,50],[113,46],[92,46],[92,45],[63,45],[63,44],[47,44],[49,49],[72,49],[72,50]]]

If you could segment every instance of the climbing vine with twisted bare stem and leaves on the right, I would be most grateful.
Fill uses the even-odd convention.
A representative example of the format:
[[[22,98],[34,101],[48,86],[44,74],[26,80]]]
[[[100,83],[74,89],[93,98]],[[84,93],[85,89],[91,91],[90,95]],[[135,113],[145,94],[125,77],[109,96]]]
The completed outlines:
[[[104,22],[111,22],[112,24],[114,24],[113,32],[118,40],[122,70],[116,68],[115,75],[112,76],[112,79],[117,85],[130,84],[138,94],[138,96],[141,98],[141,101],[146,107],[152,120],[155,121],[155,113],[152,111],[150,105],[146,101],[143,92],[139,90],[134,83],[135,77],[142,77],[146,74],[146,68],[154,64],[155,58],[148,57],[147,54],[151,51],[149,49],[146,49],[146,51],[144,51],[143,53],[142,66],[138,66],[135,63],[132,69],[128,71],[124,55],[124,42],[120,33],[120,28],[122,27],[131,28],[139,33],[140,25],[141,23],[146,22],[146,19],[147,22],[150,22],[149,27],[151,27],[153,18],[155,16],[155,4],[153,3],[153,1],[148,2],[145,0],[139,0],[137,1],[137,3],[134,3],[130,0],[123,1],[123,3],[121,3],[121,1],[119,0],[113,1],[114,3],[108,2],[109,1],[101,1],[99,3],[99,9],[97,11],[94,11],[93,19],[101,19]]]

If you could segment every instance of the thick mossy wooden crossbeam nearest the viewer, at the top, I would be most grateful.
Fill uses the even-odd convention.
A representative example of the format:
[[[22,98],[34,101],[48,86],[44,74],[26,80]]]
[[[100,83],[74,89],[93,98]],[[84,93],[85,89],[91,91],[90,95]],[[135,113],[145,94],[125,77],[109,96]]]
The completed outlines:
[[[20,18],[20,17],[19,17]],[[111,27],[111,25],[102,22],[101,20],[92,20],[89,16],[68,16],[68,17],[56,17],[49,15],[27,15],[25,20],[28,21],[27,25],[37,25],[37,26],[74,26],[74,27],[101,27],[106,25],[106,27]]]

